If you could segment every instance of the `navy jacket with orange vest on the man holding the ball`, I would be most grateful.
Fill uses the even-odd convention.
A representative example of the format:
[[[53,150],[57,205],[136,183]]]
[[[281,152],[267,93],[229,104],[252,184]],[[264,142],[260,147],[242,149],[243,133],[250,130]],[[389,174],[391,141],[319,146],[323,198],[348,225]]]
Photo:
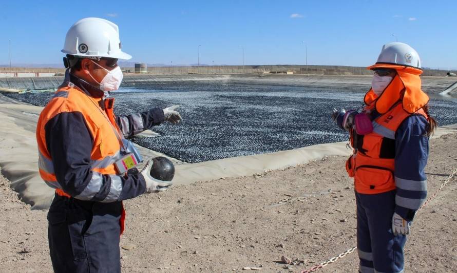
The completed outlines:
[[[87,202],[115,203],[143,194],[144,178],[130,172],[118,175],[113,163],[120,159],[122,135],[160,124],[163,111],[115,117],[113,98],[103,100],[101,90],[66,76],[36,128],[41,177],[56,194]]]

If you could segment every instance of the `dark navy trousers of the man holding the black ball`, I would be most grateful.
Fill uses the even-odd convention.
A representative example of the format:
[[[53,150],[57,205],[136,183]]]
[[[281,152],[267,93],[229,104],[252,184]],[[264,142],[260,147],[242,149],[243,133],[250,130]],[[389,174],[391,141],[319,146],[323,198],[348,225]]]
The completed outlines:
[[[121,212],[121,202],[99,203],[55,195],[48,213],[54,272],[121,272]]]

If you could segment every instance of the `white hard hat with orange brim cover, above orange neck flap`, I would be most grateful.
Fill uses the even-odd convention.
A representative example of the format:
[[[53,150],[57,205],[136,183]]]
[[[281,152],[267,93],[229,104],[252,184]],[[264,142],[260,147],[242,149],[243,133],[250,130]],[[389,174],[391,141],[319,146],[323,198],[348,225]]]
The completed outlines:
[[[368,67],[368,69],[381,68],[381,67],[413,67],[421,68],[421,58],[417,51],[404,43],[389,43],[383,46],[376,64]]]

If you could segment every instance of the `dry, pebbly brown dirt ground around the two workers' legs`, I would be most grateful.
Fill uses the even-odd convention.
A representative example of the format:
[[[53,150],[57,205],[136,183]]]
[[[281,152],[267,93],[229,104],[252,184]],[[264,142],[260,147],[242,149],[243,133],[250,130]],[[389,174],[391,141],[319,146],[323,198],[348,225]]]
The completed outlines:
[[[432,139],[429,196],[457,167],[457,134]],[[356,243],[353,183],[345,157],[249,177],[179,185],[125,201],[123,272],[299,272]],[[417,214],[406,272],[457,266],[457,179]],[[51,272],[46,211],[31,211],[0,180],[0,271]],[[286,265],[281,257],[296,260]],[[355,272],[352,253],[318,272]]]

